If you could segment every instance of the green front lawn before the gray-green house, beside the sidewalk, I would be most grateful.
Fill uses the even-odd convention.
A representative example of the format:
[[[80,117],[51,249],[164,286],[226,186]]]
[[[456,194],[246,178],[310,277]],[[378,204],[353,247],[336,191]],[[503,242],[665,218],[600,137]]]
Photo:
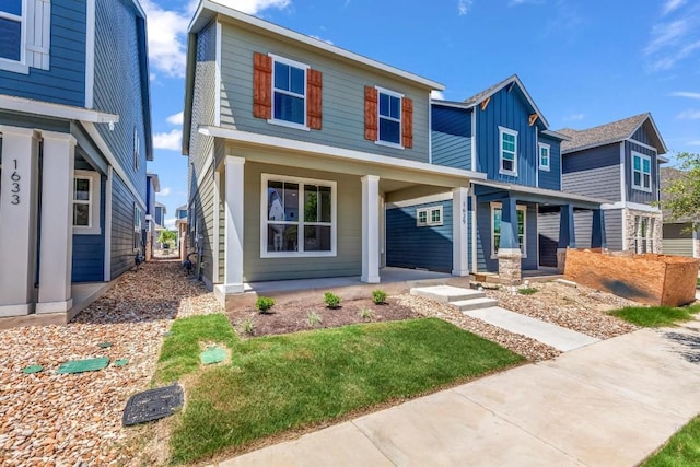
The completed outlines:
[[[188,463],[352,411],[415,397],[524,361],[434,318],[238,340],[224,315],[173,324],[155,381],[187,376],[171,436]],[[200,369],[198,342],[220,342],[230,364]]]

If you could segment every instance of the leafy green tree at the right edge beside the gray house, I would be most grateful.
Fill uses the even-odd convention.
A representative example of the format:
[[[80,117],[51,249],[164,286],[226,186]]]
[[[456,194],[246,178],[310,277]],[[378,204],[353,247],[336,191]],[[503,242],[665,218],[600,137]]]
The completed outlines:
[[[676,155],[681,173],[663,187],[661,206],[670,220],[700,219],[700,154]]]

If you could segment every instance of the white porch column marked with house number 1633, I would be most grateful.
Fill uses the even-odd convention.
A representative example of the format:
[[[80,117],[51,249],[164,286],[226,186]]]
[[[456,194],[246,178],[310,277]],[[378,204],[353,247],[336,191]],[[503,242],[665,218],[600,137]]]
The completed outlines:
[[[0,133],[0,316],[21,316],[34,311],[39,135],[9,126]]]

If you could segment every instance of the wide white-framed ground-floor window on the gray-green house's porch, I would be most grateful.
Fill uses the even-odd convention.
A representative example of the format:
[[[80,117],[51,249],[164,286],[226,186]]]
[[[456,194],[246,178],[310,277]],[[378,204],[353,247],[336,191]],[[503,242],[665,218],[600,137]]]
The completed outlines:
[[[262,175],[261,256],[335,256],[336,183]]]

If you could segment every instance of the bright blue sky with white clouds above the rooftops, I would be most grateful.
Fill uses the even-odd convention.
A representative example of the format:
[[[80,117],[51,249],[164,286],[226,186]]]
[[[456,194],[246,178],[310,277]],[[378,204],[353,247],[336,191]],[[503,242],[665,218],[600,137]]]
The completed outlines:
[[[430,78],[460,101],[517,73],[552,129],[651,112],[673,159],[700,153],[697,0],[219,0]],[[186,203],[180,155],[185,34],[197,2],[141,0],[149,54],[158,200]]]

